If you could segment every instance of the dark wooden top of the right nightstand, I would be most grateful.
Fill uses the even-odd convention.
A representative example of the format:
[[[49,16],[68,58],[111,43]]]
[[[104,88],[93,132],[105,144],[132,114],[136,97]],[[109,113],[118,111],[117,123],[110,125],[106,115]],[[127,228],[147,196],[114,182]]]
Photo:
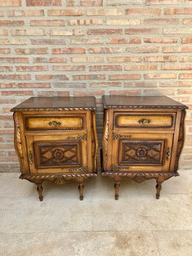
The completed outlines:
[[[188,106],[166,96],[102,96],[104,108],[184,108]]]

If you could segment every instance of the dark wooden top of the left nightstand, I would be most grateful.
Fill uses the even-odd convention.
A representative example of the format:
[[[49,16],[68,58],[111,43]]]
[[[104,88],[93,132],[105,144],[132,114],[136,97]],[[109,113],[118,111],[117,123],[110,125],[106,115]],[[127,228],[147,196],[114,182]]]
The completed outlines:
[[[11,111],[95,110],[95,97],[31,97]]]

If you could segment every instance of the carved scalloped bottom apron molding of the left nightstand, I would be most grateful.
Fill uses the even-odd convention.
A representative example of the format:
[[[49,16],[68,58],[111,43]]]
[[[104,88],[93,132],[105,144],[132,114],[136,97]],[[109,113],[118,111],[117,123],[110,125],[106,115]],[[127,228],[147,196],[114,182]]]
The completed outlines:
[[[19,179],[26,179],[35,184],[42,184],[44,181],[51,181],[58,185],[65,184],[72,180],[79,181],[79,179],[89,179],[90,177],[97,176],[97,173],[78,173],[78,174],[21,174]]]

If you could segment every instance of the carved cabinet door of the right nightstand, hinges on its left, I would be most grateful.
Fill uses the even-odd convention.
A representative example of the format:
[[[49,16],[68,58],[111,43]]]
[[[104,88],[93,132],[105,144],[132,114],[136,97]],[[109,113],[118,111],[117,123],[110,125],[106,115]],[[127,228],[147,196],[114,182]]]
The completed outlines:
[[[111,170],[168,172],[173,134],[113,133]]]

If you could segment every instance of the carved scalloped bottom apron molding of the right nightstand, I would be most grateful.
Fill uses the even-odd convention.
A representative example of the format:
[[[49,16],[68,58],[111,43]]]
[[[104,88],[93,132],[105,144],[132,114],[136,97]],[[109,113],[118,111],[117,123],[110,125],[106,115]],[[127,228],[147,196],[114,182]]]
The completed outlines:
[[[115,178],[116,176],[120,176],[123,178],[134,180],[135,182],[141,183],[145,180],[156,179],[161,180],[168,180],[171,177],[179,176],[179,173],[127,173],[127,172],[102,172],[102,175],[108,175],[109,177]]]

